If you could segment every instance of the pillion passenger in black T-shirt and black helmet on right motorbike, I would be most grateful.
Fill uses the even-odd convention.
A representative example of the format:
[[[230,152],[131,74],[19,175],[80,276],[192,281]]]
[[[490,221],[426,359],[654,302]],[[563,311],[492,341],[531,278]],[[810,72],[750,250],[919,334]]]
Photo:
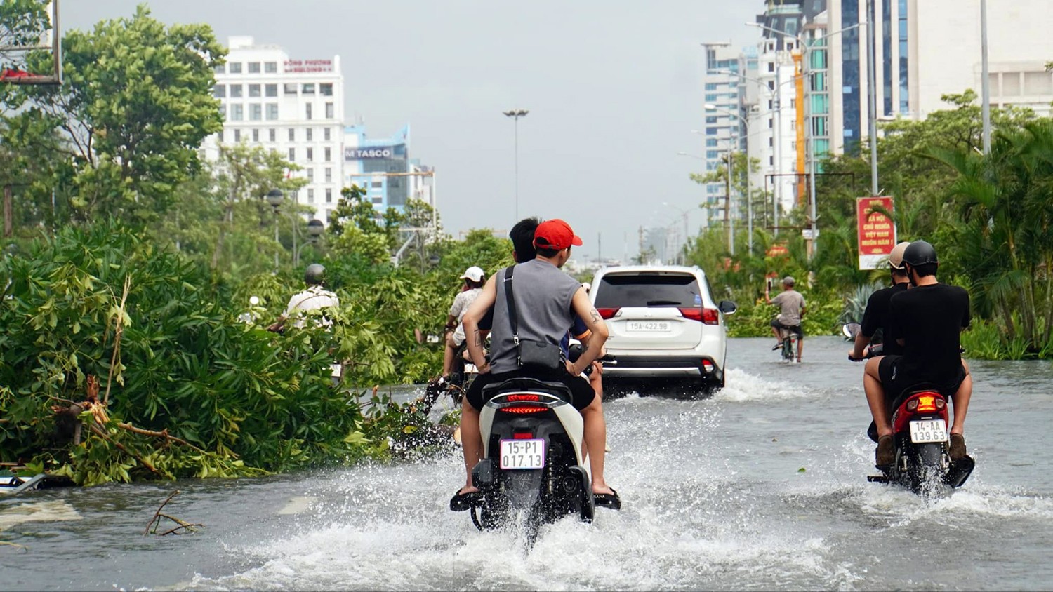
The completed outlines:
[[[969,327],[969,292],[936,281],[939,260],[926,241],[903,250],[902,262],[911,288],[889,301],[890,328],[903,346],[902,355],[882,355],[867,363],[863,390],[877,427],[878,466],[891,465],[895,447],[889,404],[906,389],[925,385],[954,403],[951,426],[952,461],[966,455],[962,436],[966,411],[973,391],[969,367],[961,360],[960,333]]]

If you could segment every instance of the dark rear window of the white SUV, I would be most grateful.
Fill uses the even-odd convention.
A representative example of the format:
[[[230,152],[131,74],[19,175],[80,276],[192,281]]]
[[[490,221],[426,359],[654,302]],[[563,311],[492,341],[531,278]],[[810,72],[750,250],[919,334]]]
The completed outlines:
[[[698,282],[687,274],[609,274],[596,291],[597,308],[624,306],[700,306]]]

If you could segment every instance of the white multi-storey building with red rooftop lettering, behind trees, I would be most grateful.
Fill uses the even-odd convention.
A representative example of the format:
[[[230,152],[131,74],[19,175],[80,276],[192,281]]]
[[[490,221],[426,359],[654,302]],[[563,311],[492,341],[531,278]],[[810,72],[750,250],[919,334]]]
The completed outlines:
[[[289,198],[326,222],[344,178],[343,75],[340,57],[291,59],[278,45],[231,37],[226,63],[216,68],[213,96],[223,130],[205,140],[206,159],[220,144],[263,146],[298,164],[307,184]]]

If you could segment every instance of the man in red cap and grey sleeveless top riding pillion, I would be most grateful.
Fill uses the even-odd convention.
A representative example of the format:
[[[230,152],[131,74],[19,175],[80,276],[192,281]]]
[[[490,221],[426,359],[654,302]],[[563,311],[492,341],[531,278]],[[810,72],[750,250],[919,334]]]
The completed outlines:
[[[571,258],[571,247],[580,246],[581,239],[571,226],[559,219],[548,220],[534,232],[537,257],[513,268],[518,336],[543,341],[558,346],[576,313],[592,332],[584,351],[573,364],[564,361],[564,369],[538,370],[519,366],[517,348],[513,340],[512,324],[504,292],[506,269],[494,274],[496,290],[484,289],[464,313],[462,322],[468,334],[468,350],[479,368],[479,376],[472,383],[464,396],[461,414],[461,445],[464,450],[465,485],[450,501],[451,509],[468,509],[469,501],[478,489],[472,483],[472,468],[480,461],[482,436],[479,433],[479,410],[482,408],[482,388],[508,379],[530,375],[565,384],[573,395],[574,407],[581,412],[584,423],[584,441],[592,469],[592,488],[596,504],[620,508],[618,494],[603,478],[603,456],[607,443],[607,424],[603,408],[589,382],[580,374],[601,355],[607,342],[607,324],[593,308],[581,284],[559,268]],[[493,307],[491,329],[491,362],[482,350],[479,322]],[[476,493],[477,495],[477,493]]]

